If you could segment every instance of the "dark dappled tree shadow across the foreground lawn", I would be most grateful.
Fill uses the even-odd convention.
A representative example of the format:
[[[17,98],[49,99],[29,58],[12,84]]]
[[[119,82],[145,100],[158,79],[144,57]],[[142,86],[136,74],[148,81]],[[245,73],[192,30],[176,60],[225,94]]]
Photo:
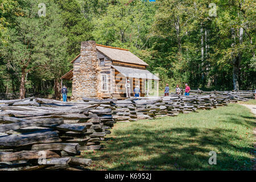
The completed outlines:
[[[133,133],[132,137],[109,138],[111,142],[104,151],[106,150],[110,155],[94,157],[92,160],[105,158],[114,159],[116,163],[119,163],[118,166],[108,168],[108,170],[250,169],[250,158],[238,156],[236,152],[247,153],[253,147],[234,146],[230,138],[232,140],[240,140],[240,138],[232,134],[231,130],[174,128],[161,132],[160,135],[156,135],[152,131],[134,129],[130,131]],[[181,135],[166,137],[171,133]],[[226,135],[221,137],[223,133]],[[116,134],[127,135],[121,131]],[[208,153],[211,150],[217,152],[217,165],[208,164],[210,157]],[[149,159],[148,156],[150,156]]]

